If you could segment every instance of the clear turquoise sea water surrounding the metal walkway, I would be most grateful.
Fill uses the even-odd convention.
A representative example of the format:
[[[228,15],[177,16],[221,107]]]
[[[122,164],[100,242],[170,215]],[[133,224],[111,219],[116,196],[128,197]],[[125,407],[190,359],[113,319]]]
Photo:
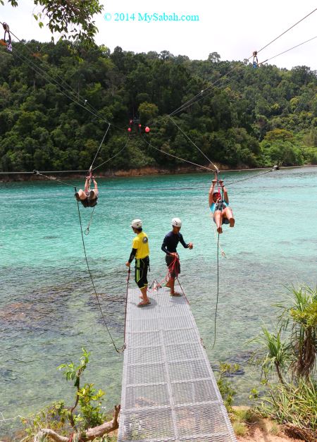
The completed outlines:
[[[225,180],[255,174],[226,173]],[[120,347],[130,221],[144,222],[153,280],[166,272],[161,243],[170,220],[182,219],[182,234],[194,250],[180,246],[180,281],[211,364],[241,364],[235,381],[242,403],[259,380],[247,366],[246,341],[259,332],[261,319],[271,324],[271,305],[282,299],[284,284],[316,285],[317,167],[283,169],[228,187],[236,225],[220,237],[227,258],[220,259],[213,350],[216,239],[208,188],[199,188],[210,180],[206,174],[99,179],[99,204],[85,241],[102,308]],[[85,381],[106,391],[110,409],[120,401],[123,356],[114,352],[94,299],[73,190],[37,181],[0,183],[0,192],[0,412],[8,419],[37,412],[52,400],[72,403],[73,388],[56,367],[76,360],[82,346],[92,353]],[[85,226],[90,210],[81,208]],[[0,436],[18,426],[18,419],[0,424]]]

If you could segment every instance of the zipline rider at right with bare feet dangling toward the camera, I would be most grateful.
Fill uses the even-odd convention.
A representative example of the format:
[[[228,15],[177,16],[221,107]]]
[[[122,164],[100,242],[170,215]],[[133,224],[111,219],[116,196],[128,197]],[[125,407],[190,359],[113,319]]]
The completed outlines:
[[[209,207],[213,212],[213,222],[216,223],[217,232],[223,233],[222,225],[229,224],[230,227],[233,227],[235,226],[235,219],[229,207],[228,192],[223,185],[223,180],[219,180],[219,185],[222,189],[221,193],[219,190],[215,190],[216,183],[217,180],[212,180],[209,190]]]

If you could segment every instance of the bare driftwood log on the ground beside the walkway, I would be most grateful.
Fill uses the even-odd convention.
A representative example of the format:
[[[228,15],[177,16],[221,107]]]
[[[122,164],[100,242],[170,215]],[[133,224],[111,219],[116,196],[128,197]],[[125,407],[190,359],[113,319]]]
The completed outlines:
[[[94,428],[89,428],[85,433],[82,435],[79,435],[79,438],[77,439],[80,442],[85,441],[93,441],[94,438],[104,436],[104,434],[111,433],[111,431],[115,431],[119,428],[118,423],[118,415],[120,412],[120,405],[115,405],[115,410],[113,413],[113,419],[109,422],[104,422],[104,424],[101,424],[99,426],[95,426]],[[72,440],[72,435],[70,436],[61,436],[60,434],[56,433],[55,431],[43,428],[37,433],[37,435],[34,438],[34,442],[39,442],[41,439],[41,436],[48,436],[55,442],[69,442]]]

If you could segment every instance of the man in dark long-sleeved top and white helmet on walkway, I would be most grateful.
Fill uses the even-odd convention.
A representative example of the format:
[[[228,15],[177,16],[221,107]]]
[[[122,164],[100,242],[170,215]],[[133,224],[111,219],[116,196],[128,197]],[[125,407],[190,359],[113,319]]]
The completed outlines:
[[[186,244],[184,238],[182,238],[182,233],[180,233],[180,228],[182,227],[182,221],[179,218],[172,219],[173,230],[168,232],[163,240],[161,249],[166,253],[166,265],[168,266],[168,276],[169,280],[166,284],[170,288],[170,295],[181,296],[180,293],[175,293],[175,278],[180,274],[180,259],[176,248],[178,243],[185,247],[185,249],[192,250],[194,245],[192,243]]]

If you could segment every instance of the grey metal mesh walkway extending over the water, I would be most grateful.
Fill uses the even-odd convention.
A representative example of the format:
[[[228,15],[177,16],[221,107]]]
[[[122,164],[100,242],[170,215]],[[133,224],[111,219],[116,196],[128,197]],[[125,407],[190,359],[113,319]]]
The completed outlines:
[[[118,441],[236,441],[185,297],[129,290]]]

